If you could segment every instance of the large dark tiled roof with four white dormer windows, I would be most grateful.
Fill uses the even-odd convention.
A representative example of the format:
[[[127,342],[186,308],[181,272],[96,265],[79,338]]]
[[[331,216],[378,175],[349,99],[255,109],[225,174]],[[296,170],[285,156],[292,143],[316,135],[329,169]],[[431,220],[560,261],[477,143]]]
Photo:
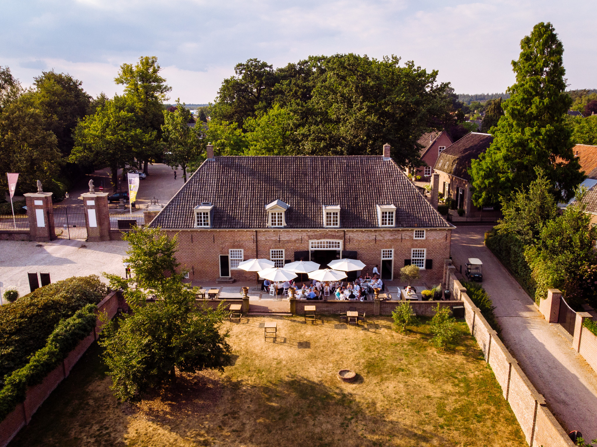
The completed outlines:
[[[288,228],[322,228],[323,205],[340,205],[341,228],[378,227],[376,205],[396,206],[396,227],[450,227],[382,156],[220,156],[205,161],[150,226],[193,228],[193,208],[211,202],[213,228],[266,228],[281,200]]]

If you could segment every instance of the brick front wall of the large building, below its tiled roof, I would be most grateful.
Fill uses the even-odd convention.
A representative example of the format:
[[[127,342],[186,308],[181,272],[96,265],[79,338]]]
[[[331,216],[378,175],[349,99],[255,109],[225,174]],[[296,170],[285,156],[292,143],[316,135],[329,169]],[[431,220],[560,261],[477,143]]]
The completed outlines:
[[[363,273],[378,264],[381,249],[394,249],[393,279],[398,280],[404,260],[411,258],[411,249],[426,248],[426,258],[433,260],[433,268],[421,270],[421,280],[439,283],[442,280],[444,260],[450,257],[451,230],[427,230],[426,238],[414,239],[414,230],[189,230],[167,231],[177,235],[177,258],[189,270],[191,280],[216,280],[220,276],[220,255],[229,249],[242,249],[245,260],[270,258],[270,249],[284,249],[284,258],[294,261],[295,251],[307,251],[312,239],[341,241],[344,251],[358,252],[359,260],[367,264]],[[254,281],[255,272],[231,270],[232,278]]]

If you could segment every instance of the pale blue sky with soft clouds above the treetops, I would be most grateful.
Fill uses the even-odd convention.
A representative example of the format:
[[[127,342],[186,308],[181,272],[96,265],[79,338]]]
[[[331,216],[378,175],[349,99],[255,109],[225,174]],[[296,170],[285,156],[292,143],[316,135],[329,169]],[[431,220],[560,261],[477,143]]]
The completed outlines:
[[[456,93],[501,93],[519,42],[550,21],[570,88],[597,88],[594,0],[1,0],[0,65],[24,86],[67,72],[96,96],[122,88],[122,63],[157,56],[171,100],[214,101],[235,64],[310,55],[395,54],[438,70]]]

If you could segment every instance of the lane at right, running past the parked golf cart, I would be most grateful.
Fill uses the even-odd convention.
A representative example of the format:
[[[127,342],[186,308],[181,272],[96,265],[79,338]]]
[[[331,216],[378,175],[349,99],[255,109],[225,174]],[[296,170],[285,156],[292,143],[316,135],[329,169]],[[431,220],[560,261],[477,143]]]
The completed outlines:
[[[459,269],[467,258],[483,261],[483,286],[491,295],[502,340],[549,409],[567,431],[597,438],[597,374],[576,353],[561,326],[547,323],[533,300],[485,247],[491,227],[461,226],[452,232],[452,257]]]

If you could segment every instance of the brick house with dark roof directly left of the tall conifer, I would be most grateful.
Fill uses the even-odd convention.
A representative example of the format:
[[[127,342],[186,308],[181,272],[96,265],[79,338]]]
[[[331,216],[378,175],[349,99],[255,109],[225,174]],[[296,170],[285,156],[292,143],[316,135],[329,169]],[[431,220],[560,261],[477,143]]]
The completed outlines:
[[[433,167],[439,174],[439,192],[456,201],[456,208],[462,208],[467,217],[481,212],[470,200],[470,161],[479,158],[492,141],[490,134],[470,132],[444,150]]]

